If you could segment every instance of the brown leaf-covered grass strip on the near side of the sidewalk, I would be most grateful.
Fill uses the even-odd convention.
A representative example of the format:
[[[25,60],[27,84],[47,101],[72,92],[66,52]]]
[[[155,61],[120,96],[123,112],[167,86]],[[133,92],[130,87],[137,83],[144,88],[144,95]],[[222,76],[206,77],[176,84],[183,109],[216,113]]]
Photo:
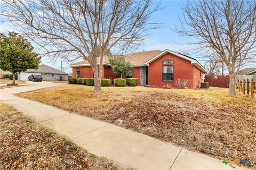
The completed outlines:
[[[1,104],[0,169],[124,169]]]

